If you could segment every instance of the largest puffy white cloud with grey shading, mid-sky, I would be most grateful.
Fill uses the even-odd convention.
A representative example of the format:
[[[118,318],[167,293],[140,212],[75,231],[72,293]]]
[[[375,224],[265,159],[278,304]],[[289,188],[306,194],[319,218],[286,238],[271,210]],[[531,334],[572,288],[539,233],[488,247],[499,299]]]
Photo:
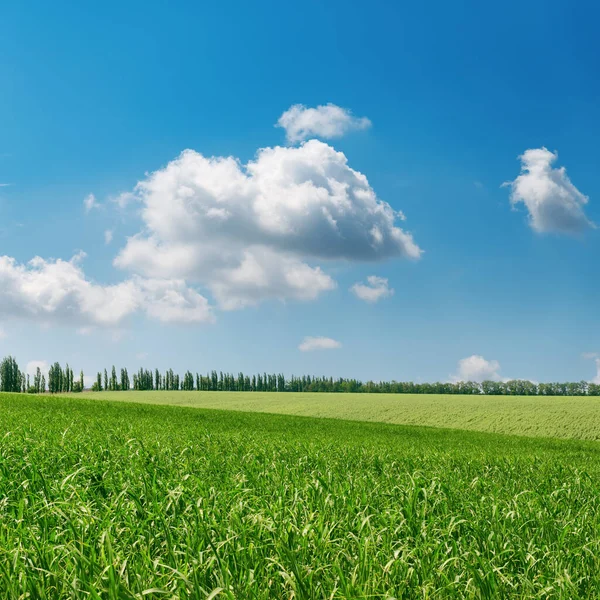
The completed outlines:
[[[115,265],[206,285],[223,309],[316,298],[336,286],[318,261],[421,255],[367,178],[317,140],[264,148],[245,166],[186,150],[135,198],[144,228]]]

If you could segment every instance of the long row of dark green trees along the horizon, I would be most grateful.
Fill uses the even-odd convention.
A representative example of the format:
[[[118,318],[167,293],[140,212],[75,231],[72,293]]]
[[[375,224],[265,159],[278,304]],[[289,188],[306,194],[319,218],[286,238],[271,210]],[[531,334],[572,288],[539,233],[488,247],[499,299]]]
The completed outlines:
[[[83,371],[75,379],[73,369],[67,364],[63,369],[54,363],[48,370],[48,379],[38,367],[30,375],[19,369],[17,361],[8,356],[0,362],[0,391],[40,394],[49,392],[82,392]],[[186,371],[180,377],[173,369],[161,373],[139,369],[130,377],[127,369],[112,367],[98,372],[92,391],[122,390],[186,390],[207,392],[341,392],[382,394],[485,394],[498,396],[600,396],[600,384],[586,381],[570,383],[534,383],[522,379],[510,381],[473,381],[413,383],[411,381],[367,381],[333,377],[285,377],[282,373],[245,375],[240,372],[211,371],[206,375]]]

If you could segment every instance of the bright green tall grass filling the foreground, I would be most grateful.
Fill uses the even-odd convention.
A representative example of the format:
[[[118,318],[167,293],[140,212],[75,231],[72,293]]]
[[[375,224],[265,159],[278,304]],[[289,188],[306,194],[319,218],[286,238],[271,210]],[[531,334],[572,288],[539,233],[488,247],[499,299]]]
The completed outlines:
[[[597,598],[600,446],[0,394],[2,598]]]

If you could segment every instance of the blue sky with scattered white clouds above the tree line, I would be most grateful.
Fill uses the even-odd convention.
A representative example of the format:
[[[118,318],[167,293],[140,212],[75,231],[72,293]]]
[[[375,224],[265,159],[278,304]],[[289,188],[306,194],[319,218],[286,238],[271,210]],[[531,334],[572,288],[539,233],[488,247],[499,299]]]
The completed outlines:
[[[10,184],[0,354],[90,375],[115,363],[415,381],[596,376],[592,3],[203,4],[0,8],[0,183]],[[346,112],[317,110],[328,104]],[[301,140],[275,127],[295,105],[308,109],[296,115],[310,125]],[[352,120],[363,117],[370,126]],[[265,148],[273,160],[257,158]],[[513,206],[501,186],[542,148],[558,158],[541,157]],[[183,167],[185,149],[195,154]],[[275,185],[279,159],[289,169]],[[330,182],[359,172],[371,209],[387,203],[406,220],[373,216],[360,194],[333,216],[318,203],[295,210],[304,199],[289,186],[314,181],[324,161]],[[228,208],[171,218],[173,194],[187,189],[184,204],[205,210],[208,194]],[[382,223],[383,242],[369,246]],[[36,256],[43,263],[28,264]],[[351,291],[370,276],[393,294]],[[307,336],[339,347],[302,351]],[[486,362],[459,363],[473,355]]]

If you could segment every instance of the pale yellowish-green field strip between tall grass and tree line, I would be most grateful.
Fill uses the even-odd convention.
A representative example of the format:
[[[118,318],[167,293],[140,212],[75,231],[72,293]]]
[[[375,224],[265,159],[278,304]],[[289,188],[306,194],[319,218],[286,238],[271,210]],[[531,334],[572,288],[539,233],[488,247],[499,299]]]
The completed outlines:
[[[259,392],[101,392],[94,399],[600,439],[600,397]]]

